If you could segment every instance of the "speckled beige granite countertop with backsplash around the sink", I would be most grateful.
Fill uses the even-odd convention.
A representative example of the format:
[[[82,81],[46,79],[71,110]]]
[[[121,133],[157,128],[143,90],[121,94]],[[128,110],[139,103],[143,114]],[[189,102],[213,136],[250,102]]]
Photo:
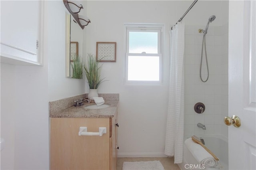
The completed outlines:
[[[103,95],[103,94],[102,94]],[[107,94],[106,94],[107,95]],[[111,118],[114,117],[118,107],[119,94],[110,94],[114,95],[114,98],[109,98],[108,96],[104,96],[106,105],[110,105],[110,107],[103,109],[87,109],[85,108],[88,105],[95,105],[95,103],[86,103],[82,106],[69,106],[64,108],[60,108],[62,105],[60,103],[66,102],[67,100],[73,100],[73,98],[62,99],[59,101],[54,101],[49,103],[50,108],[50,117],[51,118]],[[100,96],[100,95],[99,95]],[[79,96],[80,98],[80,96]],[[78,99],[79,99],[78,98]],[[107,99],[107,100],[106,100]],[[72,105],[74,105],[74,100],[72,101]]]

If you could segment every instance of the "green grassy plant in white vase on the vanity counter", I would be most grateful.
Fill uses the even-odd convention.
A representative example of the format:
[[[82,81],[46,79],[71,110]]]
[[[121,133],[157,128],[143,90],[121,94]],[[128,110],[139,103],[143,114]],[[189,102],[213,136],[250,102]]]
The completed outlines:
[[[90,88],[88,99],[92,99],[92,97],[98,97],[98,87],[105,81],[105,78],[100,79],[102,65],[99,65],[94,55],[88,54],[87,61],[88,63],[84,64],[84,70]]]

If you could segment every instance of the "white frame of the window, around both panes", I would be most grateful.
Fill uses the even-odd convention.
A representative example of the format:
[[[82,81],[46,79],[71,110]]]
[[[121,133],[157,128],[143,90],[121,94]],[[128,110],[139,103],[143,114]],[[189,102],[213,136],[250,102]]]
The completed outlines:
[[[128,53],[129,48],[129,36],[128,32],[130,31],[150,31],[154,30],[158,32],[158,53]],[[125,60],[124,60],[124,84],[126,85],[163,85],[163,34],[164,34],[164,24],[124,24],[124,53],[125,53]],[[159,81],[131,81],[128,80],[128,56],[159,56]]]

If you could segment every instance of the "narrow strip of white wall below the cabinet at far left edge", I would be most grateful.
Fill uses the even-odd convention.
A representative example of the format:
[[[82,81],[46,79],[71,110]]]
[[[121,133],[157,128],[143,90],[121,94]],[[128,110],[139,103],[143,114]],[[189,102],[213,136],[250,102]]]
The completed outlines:
[[[15,66],[1,63],[1,169],[14,169]]]

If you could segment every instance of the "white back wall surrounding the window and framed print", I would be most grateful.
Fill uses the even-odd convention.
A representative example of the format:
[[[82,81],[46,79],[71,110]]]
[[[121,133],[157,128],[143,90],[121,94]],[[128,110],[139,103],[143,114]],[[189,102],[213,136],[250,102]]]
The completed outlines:
[[[86,50],[96,53],[96,42],[117,42],[116,63],[104,63],[104,82],[99,93],[120,93],[118,109],[118,156],[163,156],[169,81],[169,28],[192,1],[88,1]],[[184,18],[187,25],[205,25],[209,16],[219,17],[221,1],[198,1]],[[164,84],[124,85],[124,23],[165,24]],[[86,88],[88,92],[88,88]]]

